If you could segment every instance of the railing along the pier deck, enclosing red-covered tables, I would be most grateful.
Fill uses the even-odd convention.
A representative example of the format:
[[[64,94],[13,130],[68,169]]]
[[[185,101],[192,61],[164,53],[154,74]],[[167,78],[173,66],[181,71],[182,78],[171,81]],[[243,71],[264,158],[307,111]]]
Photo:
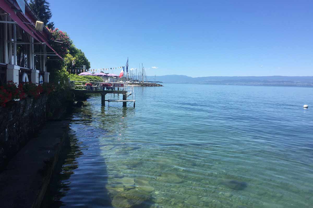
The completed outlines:
[[[69,81],[72,89],[127,91],[127,83],[105,81]]]

